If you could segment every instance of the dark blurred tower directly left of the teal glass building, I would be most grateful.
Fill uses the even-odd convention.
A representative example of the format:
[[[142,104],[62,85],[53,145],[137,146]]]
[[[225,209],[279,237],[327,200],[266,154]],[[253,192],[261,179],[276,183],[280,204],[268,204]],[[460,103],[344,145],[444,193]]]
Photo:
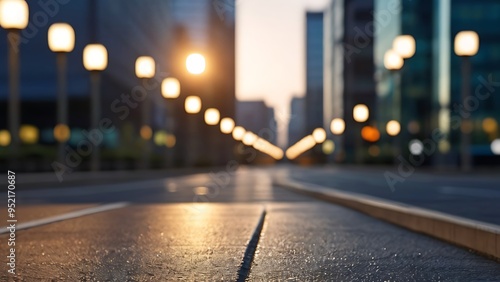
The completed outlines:
[[[334,118],[345,120],[346,130],[335,154],[338,160],[363,162],[370,144],[361,139],[361,124],[353,119],[353,108],[365,104],[371,124],[377,113],[373,54],[373,1],[332,0],[325,11],[325,93],[323,125]]]

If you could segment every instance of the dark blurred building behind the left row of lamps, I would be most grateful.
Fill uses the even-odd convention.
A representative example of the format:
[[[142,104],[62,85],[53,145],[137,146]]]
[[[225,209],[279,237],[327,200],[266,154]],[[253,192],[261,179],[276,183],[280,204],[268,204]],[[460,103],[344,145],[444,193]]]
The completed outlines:
[[[49,2],[52,4],[47,4]],[[141,155],[137,145],[141,139],[143,109],[135,103],[134,106],[127,105],[123,98],[130,98],[143,84],[135,74],[135,61],[139,56],[154,58],[159,83],[167,76],[178,76],[181,81],[181,97],[174,101],[161,96],[159,84],[148,90],[153,103],[146,113],[151,120],[151,138],[155,132],[165,130],[176,137],[176,165],[187,164],[183,161],[187,149],[182,144],[191,138],[184,132],[187,128],[183,104],[186,96],[200,96],[203,110],[216,107],[221,117],[234,117],[234,7],[216,9],[210,0],[152,0],[148,5],[140,0],[66,2],[29,1],[30,24],[21,31],[21,124],[32,125],[39,132],[35,144],[23,144],[22,151],[26,159],[36,158],[38,163],[43,163],[37,170],[50,170],[50,163],[55,159],[56,141],[52,132],[57,122],[56,55],[48,48],[47,32],[56,22],[70,24],[76,35],[75,48],[67,58],[70,146],[75,146],[83,138],[82,130],[90,126],[90,83],[89,72],[82,62],[83,49],[87,44],[100,43],[108,52],[108,66],[101,75],[101,117],[110,118],[117,130],[105,135],[103,169],[134,168]],[[42,18],[45,20],[41,21]],[[5,40],[6,37],[6,31],[0,29],[0,38]],[[184,39],[177,40],[179,38]],[[199,52],[205,56],[207,69],[204,74],[197,77],[187,75],[187,52]],[[7,54],[7,44],[0,44],[0,53]],[[174,57],[179,54],[182,56]],[[7,113],[6,56],[0,56],[0,66],[0,110]],[[168,106],[168,103],[174,106]],[[173,121],[169,109],[173,111]],[[203,113],[199,116],[202,117]],[[7,128],[6,119],[0,119],[0,128]],[[230,137],[220,134],[217,126],[202,127],[200,134],[194,137],[198,139],[199,151],[207,151],[201,149],[207,147],[199,141],[203,138],[201,136],[210,136],[211,144],[217,147],[213,151],[220,154],[205,156],[201,152],[203,160],[193,160],[189,165],[222,164],[231,159],[234,144]],[[153,150],[156,153],[152,156],[152,164],[158,167],[165,146],[157,144]],[[126,164],[117,165],[117,161]],[[84,162],[77,169],[86,168]]]

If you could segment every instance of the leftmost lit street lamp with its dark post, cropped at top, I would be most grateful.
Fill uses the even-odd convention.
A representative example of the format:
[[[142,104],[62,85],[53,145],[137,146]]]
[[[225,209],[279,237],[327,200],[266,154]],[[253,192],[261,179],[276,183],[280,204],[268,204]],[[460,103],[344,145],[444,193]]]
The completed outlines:
[[[24,0],[0,1],[0,26],[7,30],[9,45],[9,131],[11,136],[10,149],[12,152],[12,166],[17,166],[16,158],[19,153],[19,43],[20,31],[28,26],[29,8]]]

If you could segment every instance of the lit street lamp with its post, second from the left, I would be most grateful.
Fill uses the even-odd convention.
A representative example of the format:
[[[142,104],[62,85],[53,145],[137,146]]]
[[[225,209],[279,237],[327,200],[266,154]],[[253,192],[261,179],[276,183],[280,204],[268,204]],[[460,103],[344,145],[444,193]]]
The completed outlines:
[[[57,62],[57,125],[54,134],[58,141],[57,159],[64,160],[64,145],[69,139],[68,128],[68,97],[66,87],[66,54],[75,48],[75,31],[67,23],[55,23],[49,27],[49,48],[56,53]],[[59,138],[58,138],[59,137]]]

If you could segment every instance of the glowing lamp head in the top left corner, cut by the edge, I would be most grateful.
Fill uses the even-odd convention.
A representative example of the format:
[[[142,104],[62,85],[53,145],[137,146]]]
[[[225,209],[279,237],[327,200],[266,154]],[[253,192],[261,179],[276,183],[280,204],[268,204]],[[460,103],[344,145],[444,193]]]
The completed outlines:
[[[0,0],[0,26],[25,29],[29,21],[28,3],[24,0]]]

